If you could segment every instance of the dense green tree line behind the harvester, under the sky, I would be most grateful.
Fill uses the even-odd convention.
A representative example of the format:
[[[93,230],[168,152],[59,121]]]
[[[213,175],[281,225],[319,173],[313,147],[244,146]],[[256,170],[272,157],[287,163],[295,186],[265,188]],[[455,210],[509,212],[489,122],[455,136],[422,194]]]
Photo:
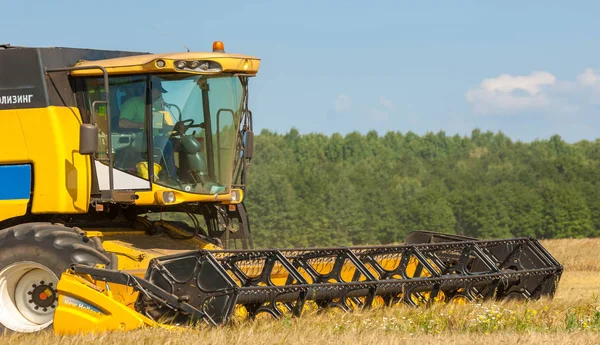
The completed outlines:
[[[255,137],[246,204],[259,247],[600,235],[600,139],[371,131]]]

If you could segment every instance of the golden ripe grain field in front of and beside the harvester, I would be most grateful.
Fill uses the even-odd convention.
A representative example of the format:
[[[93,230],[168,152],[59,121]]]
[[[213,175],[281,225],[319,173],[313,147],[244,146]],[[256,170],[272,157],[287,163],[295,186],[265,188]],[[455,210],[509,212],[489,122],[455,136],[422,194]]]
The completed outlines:
[[[185,331],[5,335],[1,344],[599,344],[600,239],[546,240],[564,265],[552,300],[327,311]]]

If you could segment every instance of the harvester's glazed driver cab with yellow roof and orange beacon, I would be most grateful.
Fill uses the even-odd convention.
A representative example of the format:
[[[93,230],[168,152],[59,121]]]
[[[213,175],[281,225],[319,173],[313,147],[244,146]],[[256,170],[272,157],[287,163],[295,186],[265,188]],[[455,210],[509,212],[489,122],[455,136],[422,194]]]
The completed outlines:
[[[252,136],[248,78],[260,61],[225,54],[221,42],[213,48],[77,63],[69,72],[89,119],[79,152],[89,146],[97,209],[180,205],[203,216],[207,239],[248,248],[241,202],[251,148],[243,139]]]

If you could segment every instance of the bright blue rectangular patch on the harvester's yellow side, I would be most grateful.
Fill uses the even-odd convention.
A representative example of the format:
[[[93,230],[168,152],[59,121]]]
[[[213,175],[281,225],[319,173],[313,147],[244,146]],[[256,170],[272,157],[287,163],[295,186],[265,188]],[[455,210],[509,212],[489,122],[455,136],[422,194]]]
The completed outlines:
[[[29,199],[31,165],[0,165],[0,200]]]

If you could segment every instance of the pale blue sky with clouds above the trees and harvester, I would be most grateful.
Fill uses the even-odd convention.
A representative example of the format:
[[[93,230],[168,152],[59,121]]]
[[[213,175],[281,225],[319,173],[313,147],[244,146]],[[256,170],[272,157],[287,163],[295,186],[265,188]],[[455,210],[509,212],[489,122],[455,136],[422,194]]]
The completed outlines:
[[[258,56],[257,130],[600,137],[597,1],[4,0],[1,8],[0,40],[14,45],[163,53],[222,40],[228,52]]]

